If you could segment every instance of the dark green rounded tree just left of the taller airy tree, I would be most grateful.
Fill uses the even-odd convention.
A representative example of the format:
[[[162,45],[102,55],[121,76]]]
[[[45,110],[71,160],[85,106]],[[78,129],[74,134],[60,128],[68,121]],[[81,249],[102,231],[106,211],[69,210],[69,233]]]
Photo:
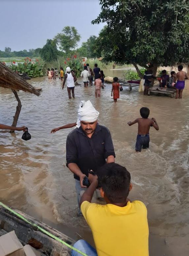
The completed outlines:
[[[47,39],[47,43],[41,49],[40,54],[45,61],[56,60],[58,57],[58,50],[56,48],[56,43],[51,39]]]

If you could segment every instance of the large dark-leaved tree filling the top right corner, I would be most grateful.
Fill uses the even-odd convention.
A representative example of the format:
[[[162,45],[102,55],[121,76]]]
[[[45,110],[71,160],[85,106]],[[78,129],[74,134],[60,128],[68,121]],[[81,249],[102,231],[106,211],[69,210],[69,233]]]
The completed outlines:
[[[189,59],[189,1],[100,0],[101,13],[92,24],[106,22],[98,45],[105,61],[158,66]],[[105,38],[107,40],[105,40]]]

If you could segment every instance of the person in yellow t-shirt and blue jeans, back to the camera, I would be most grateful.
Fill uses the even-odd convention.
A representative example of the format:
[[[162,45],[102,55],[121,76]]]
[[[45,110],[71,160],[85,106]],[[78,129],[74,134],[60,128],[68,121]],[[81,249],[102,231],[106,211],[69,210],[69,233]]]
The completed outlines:
[[[131,202],[132,189],[127,169],[105,164],[99,176],[89,174],[90,186],[80,200],[81,212],[92,230],[96,250],[84,240],[74,247],[89,256],[148,256],[147,210],[141,201]],[[97,185],[106,205],[91,203]],[[80,255],[72,251],[72,256]]]

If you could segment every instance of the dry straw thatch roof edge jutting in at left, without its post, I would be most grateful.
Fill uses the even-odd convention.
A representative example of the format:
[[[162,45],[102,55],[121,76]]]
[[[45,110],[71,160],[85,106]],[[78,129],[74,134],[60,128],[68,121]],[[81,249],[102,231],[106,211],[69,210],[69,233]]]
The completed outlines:
[[[0,62],[0,86],[15,91],[22,90],[39,96],[40,92],[12,69]]]

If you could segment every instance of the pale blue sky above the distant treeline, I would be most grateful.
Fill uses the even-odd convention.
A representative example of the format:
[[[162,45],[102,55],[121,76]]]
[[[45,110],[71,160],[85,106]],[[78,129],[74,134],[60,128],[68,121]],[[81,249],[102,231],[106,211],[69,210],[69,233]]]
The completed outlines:
[[[91,24],[100,10],[98,0],[0,0],[0,50],[41,48],[64,26],[77,28],[81,45],[103,28]]]

